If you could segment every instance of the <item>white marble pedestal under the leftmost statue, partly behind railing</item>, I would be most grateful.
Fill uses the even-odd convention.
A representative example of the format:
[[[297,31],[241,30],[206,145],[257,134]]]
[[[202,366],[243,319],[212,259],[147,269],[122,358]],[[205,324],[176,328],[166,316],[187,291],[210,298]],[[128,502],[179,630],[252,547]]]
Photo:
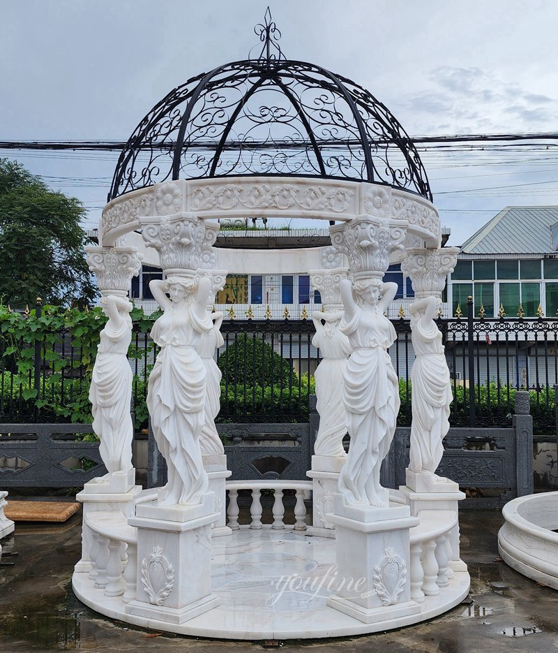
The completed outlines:
[[[82,557],[75,565],[75,571],[91,571],[89,552],[93,546],[91,529],[85,523],[90,512],[119,512],[129,517],[133,514],[134,499],[142,492],[141,485],[134,485],[135,469],[128,474],[112,474],[110,479],[99,482],[96,478],[89,480],[83,490],[75,495],[83,504]]]

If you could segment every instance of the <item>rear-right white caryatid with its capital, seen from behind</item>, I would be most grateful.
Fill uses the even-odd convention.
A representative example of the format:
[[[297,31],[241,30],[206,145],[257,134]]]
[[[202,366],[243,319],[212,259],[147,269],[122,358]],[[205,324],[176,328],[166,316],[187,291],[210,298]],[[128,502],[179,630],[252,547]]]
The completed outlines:
[[[347,279],[347,268],[310,270],[312,288],[322,297],[322,311],[312,313],[316,328],[312,344],[319,349],[319,365],[314,373],[316,382],[316,409],[319,413],[319,429],[314,443],[317,456],[345,458],[343,438],[347,433],[345,406],[340,402],[343,393],[347,356],[351,353],[349,339],[339,326],[343,306],[339,283]]]

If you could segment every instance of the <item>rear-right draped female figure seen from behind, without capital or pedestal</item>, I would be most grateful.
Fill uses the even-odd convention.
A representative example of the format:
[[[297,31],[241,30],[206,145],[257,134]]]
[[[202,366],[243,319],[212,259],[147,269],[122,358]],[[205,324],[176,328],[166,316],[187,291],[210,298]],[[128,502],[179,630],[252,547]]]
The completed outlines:
[[[345,457],[343,437],[347,432],[345,409],[340,405],[343,374],[347,367],[347,355],[351,346],[347,336],[339,329],[342,311],[322,313],[314,311],[312,322],[316,333],[312,344],[319,349],[322,360],[316,368],[316,408],[319,413],[319,429],[314,445],[318,456]],[[324,322],[324,324],[322,324]]]

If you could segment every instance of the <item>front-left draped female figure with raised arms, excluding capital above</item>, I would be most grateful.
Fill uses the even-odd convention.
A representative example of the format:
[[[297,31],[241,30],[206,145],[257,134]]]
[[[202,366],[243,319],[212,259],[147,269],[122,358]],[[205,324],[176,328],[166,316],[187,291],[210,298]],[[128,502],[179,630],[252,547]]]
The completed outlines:
[[[210,286],[209,279],[200,279],[196,294],[194,279],[186,276],[155,279],[149,284],[164,311],[151,330],[160,352],[147,392],[153,436],[167,461],[168,482],[159,502],[162,506],[199,504],[208,488],[199,449],[206,369],[196,347],[202,334],[213,328],[206,311]]]

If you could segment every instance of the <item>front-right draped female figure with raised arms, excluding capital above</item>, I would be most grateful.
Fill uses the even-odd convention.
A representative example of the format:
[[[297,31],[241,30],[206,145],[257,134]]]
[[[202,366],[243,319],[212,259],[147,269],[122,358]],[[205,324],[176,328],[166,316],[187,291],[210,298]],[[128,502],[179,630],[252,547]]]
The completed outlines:
[[[379,482],[382,461],[389,452],[400,406],[399,382],[387,348],[395,329],[384,311],[395,297],[397,284],[377,277],[340,281],[345,316],[340,329],[349,338],[352,354],[345,372],[343,401],[349,455],[339,478],[339,491],[347,505],[389,506],[389,492]],[[381,296],[381,298],[380,298]]]

